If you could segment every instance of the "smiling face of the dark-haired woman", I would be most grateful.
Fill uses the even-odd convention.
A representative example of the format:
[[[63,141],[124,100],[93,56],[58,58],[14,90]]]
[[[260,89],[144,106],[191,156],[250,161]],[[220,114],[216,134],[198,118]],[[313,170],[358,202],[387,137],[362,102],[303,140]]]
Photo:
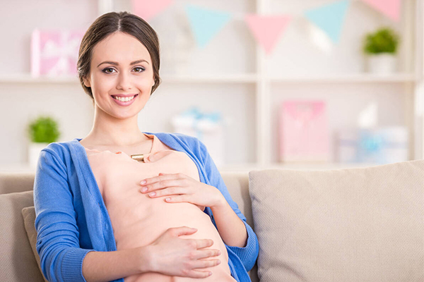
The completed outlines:
[[[90,75],[84,84],[91,87],[95,106],[105,114],[116,118],[139,114],[155,84],[151,56],[136,37],[114,32],[93,48]],[[116,95],[135,97],[119,102]]]

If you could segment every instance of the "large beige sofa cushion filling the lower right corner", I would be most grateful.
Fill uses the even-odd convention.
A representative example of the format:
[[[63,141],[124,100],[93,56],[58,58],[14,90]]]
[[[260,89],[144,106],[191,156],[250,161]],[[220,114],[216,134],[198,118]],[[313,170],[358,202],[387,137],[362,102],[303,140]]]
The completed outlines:
[[[249,172],[258,275],[424,281],[424,161]]]

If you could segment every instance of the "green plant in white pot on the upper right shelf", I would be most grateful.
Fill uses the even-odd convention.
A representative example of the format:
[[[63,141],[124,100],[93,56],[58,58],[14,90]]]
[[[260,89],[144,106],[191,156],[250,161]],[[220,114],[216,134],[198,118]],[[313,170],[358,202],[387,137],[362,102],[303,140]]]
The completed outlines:
[[[365,36],[363,51],[367,56],[368,71],[375,74],[396,72],[399,35],[390,27],[381,27]]]

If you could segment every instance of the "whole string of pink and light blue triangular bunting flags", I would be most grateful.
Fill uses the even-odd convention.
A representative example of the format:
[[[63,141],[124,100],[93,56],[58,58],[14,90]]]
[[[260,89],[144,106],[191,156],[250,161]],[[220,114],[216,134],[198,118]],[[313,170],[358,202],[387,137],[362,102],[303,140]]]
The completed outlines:
[[[331,44],[338,43],[341,37],[343,23],[346,19],[349,4],[353,0],[337,0],[318,8],[312,8],[303,13],[314,27],[322,30],[322,36],[329,38]],[[402,0],[358,0],[383,13],[391,20],[399,22]],[[131,0],[132,12],[145,20],[161,13],[173,0]],[[185,13],[192,28],[194,38],[199,47],[203,48],[215,37],[218,32],[230,21],[232,13],[214,11],[209,8],[185,5]],[[259,14],[246,14],[241,17],[258,44],[269,55],[273,51],[281,34],[293,20],[291,16],[264,16]]]

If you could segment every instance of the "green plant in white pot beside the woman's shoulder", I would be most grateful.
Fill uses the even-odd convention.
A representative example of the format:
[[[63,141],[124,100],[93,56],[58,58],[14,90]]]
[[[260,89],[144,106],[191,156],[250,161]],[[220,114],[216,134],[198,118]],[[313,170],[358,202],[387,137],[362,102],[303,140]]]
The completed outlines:
[[[28,135],[30,137],[28,162],[35,168],[41,150],[59,138],[58,123],[50,116],[38,116],[28,125]]]

